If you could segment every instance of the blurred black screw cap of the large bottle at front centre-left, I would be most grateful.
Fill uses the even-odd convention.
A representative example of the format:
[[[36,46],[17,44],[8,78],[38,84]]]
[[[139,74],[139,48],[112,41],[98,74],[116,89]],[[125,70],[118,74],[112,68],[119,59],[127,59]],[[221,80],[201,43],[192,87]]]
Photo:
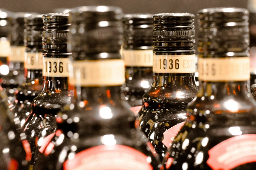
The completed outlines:
[[[72,53],[118,52],[122,45],[122,10],[119,7],[86,6],[70,12],[68,50]],[[69,48],[71,47],[71,48]]]

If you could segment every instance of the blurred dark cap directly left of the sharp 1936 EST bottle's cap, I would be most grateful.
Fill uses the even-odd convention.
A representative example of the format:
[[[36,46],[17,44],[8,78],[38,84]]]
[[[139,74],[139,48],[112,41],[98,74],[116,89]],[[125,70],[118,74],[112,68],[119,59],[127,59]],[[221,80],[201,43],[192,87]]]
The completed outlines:
[[[153,14],[126,14],[123,17],[124,49],[152,46]]]

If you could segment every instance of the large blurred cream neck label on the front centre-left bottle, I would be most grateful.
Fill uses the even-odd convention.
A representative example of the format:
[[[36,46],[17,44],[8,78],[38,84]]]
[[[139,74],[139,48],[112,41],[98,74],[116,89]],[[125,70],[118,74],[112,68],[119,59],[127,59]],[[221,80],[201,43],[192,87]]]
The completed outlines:
[[[77,86],[117,86],[125,82],[125,64],[121,59],[75,61],[69,83]]]

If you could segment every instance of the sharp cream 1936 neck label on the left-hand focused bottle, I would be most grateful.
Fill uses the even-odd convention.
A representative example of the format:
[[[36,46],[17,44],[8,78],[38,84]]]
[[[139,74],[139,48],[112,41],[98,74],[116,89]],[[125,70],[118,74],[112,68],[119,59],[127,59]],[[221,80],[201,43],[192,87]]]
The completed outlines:
[[[43,76],[69,77],[69,58],[43,57]]]

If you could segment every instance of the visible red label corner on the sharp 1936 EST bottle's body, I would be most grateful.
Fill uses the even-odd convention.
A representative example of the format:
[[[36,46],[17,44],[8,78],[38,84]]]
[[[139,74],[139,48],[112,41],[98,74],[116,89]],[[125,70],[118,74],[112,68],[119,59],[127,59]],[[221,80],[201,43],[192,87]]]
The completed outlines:
[[[170,129],[168,129],[167,131],[165,131],[163,133],[163,140],[162,143],[167,147],[170,148],[170,145],[172,144],[172,141],[174,139],[174,137],[178,134],[180,128],[185,124],[185,121],[182,123],[179,123],[173,127],[171,127]]]

